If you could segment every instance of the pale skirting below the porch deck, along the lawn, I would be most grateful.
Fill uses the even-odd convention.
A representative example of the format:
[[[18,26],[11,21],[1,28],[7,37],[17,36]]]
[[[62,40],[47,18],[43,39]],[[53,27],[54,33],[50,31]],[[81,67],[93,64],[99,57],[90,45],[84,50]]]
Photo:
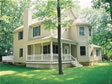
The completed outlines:
[[[47,62],[43,62],[43,63],[26,63],[26,67],[30,67],[30,68],[42,68],[42,69],[56,69],[58,68],[58,62],[52,62],[52,63],[47,63]],[[62,63],[62,67],[63,68],[67,68],[67,67],[72,67],[71,62],[63,62]]]

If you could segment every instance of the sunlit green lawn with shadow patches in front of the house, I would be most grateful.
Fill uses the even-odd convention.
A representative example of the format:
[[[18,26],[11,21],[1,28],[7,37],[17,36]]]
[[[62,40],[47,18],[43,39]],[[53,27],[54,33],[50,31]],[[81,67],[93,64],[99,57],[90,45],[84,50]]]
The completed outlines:
[[[112,63],[63,69],[32,69],[0,64],[0,84],[112,84]]]

